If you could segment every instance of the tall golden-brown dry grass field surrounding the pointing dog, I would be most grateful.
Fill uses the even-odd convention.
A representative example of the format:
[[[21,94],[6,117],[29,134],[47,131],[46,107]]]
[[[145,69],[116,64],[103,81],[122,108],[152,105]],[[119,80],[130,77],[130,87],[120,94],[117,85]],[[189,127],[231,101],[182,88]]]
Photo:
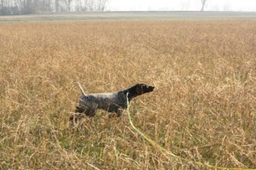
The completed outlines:
[[[256,20],[0,25],[0,169],[208,169],[166,156],[127,112],[69,116],[80,96],[137,82],[134,124],[166,150],[256,168]]]

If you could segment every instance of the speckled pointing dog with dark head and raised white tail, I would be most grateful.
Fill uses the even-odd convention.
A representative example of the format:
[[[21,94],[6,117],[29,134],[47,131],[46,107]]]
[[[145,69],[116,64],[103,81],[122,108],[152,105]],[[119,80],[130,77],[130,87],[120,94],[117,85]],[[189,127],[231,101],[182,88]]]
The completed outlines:
[[[76,107],[75,112],[85,114],[86,116],[95,116],[97,109],[115,113],[116,116],[121,116],[123,111],[127,108],[127,99],[130,103],[131,99],[154,91],[154,86],[148,86],[144,83],[137,83],[131,88],[126,88],[118,92],[101,94],[85,94],[80,84],[79,88],[82,96],[79,99],[79,105]],[[70,121],[73,122],[74,119],[79,117],[79,114],[71,116]]]

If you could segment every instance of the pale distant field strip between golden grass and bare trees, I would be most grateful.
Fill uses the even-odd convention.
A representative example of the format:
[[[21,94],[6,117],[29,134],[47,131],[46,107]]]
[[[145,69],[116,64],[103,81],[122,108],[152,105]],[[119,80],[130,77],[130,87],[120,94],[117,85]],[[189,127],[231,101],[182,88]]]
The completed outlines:
[[[0,16],[0,22],[56,20],[256,20],[256,12],[102,12]]]

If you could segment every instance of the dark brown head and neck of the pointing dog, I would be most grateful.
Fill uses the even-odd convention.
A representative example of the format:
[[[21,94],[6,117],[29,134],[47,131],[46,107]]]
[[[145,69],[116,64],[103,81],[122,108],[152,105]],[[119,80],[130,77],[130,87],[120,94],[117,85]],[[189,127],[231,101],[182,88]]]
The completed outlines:
[[[152,91],[154,91],[154,86],[148,86],[144,83],[138,83],[132,86],[131,88],[125,90],[125,92],[128,93],[129,101],[131,101],[131,99],[136,98],[139,95],[147,94]]]

